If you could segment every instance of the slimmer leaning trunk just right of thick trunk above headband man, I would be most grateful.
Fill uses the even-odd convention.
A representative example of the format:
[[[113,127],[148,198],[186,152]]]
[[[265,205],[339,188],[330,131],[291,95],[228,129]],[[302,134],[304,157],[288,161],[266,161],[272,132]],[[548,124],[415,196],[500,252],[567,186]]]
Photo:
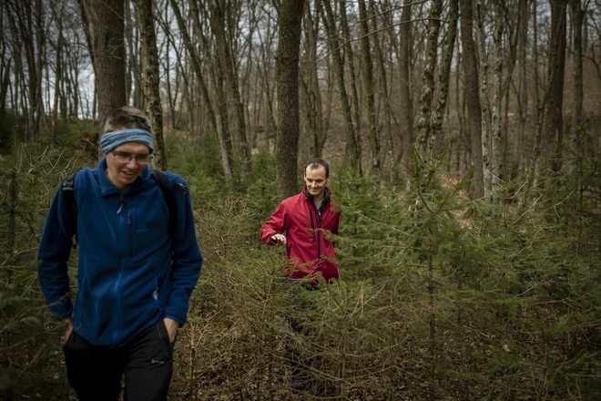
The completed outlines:
[[[135,0],[142,42],[142,68],[146,112],[155,137],[155,163],[158,170],[167,170],[163,140],[163,107],[160,103],[157,35],[153,18],[152,0]]]

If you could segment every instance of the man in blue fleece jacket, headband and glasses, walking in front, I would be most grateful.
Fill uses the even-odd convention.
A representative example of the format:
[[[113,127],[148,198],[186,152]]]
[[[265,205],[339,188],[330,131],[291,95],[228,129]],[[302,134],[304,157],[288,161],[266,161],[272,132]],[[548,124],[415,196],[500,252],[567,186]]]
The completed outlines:
[[[66,371],[80,400],[117,401],[123,375],[127,401],[167,400],[173,344],[202,265],[188,184],[163,173],[178,206],[170,217],[148,168],[154,149],[148,118],[137,108],[119,108],[104,131],[105,158],[76,173],[76,229],[64,191],[56,191],[38,277],[50,310],[65,322]],[[66,262],[75,233],[73,305]]]

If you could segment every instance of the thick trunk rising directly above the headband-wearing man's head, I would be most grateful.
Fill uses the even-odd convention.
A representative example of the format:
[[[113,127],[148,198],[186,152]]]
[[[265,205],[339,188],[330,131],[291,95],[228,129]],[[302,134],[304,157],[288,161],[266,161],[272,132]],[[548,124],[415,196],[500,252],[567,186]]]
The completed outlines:
[[[100,127],[108,113],[127,104],[123,0],[78,0],[92,58]]]

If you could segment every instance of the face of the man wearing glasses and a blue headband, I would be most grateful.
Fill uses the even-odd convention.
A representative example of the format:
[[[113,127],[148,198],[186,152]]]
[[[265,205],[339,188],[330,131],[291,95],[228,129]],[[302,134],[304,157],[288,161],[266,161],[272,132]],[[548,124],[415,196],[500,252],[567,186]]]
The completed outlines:
[[[115,154],[117,153],[117,156]],[[136,158],[131,158],[127,162],[120,159],[127,159],[129,156],[148,156],[150,149],[148,146],[139,142],[127,142],[117,146],[107,153],[107,176],[119,190],[123,190],[127,185],[132,184],[138,179],[140,173],[146,167],[146,164],[139,164]]]

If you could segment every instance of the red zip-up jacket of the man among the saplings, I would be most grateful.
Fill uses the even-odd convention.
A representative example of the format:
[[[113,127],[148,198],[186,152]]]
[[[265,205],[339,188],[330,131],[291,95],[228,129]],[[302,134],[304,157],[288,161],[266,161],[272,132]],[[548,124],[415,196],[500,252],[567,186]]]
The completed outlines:
[[[260,228],[260,236],[273,245],[270,237],[274,233],[286,233],[286,257],[284,272],[293,278],[302,278],[316,272],[330,282],[338,278],[334,244],[326,238],[324,231],[338,235],[341,212],[331,200],[331,191],[326,188],[320,214],[307,188],[288,199],[282,200],[270,220]]]

